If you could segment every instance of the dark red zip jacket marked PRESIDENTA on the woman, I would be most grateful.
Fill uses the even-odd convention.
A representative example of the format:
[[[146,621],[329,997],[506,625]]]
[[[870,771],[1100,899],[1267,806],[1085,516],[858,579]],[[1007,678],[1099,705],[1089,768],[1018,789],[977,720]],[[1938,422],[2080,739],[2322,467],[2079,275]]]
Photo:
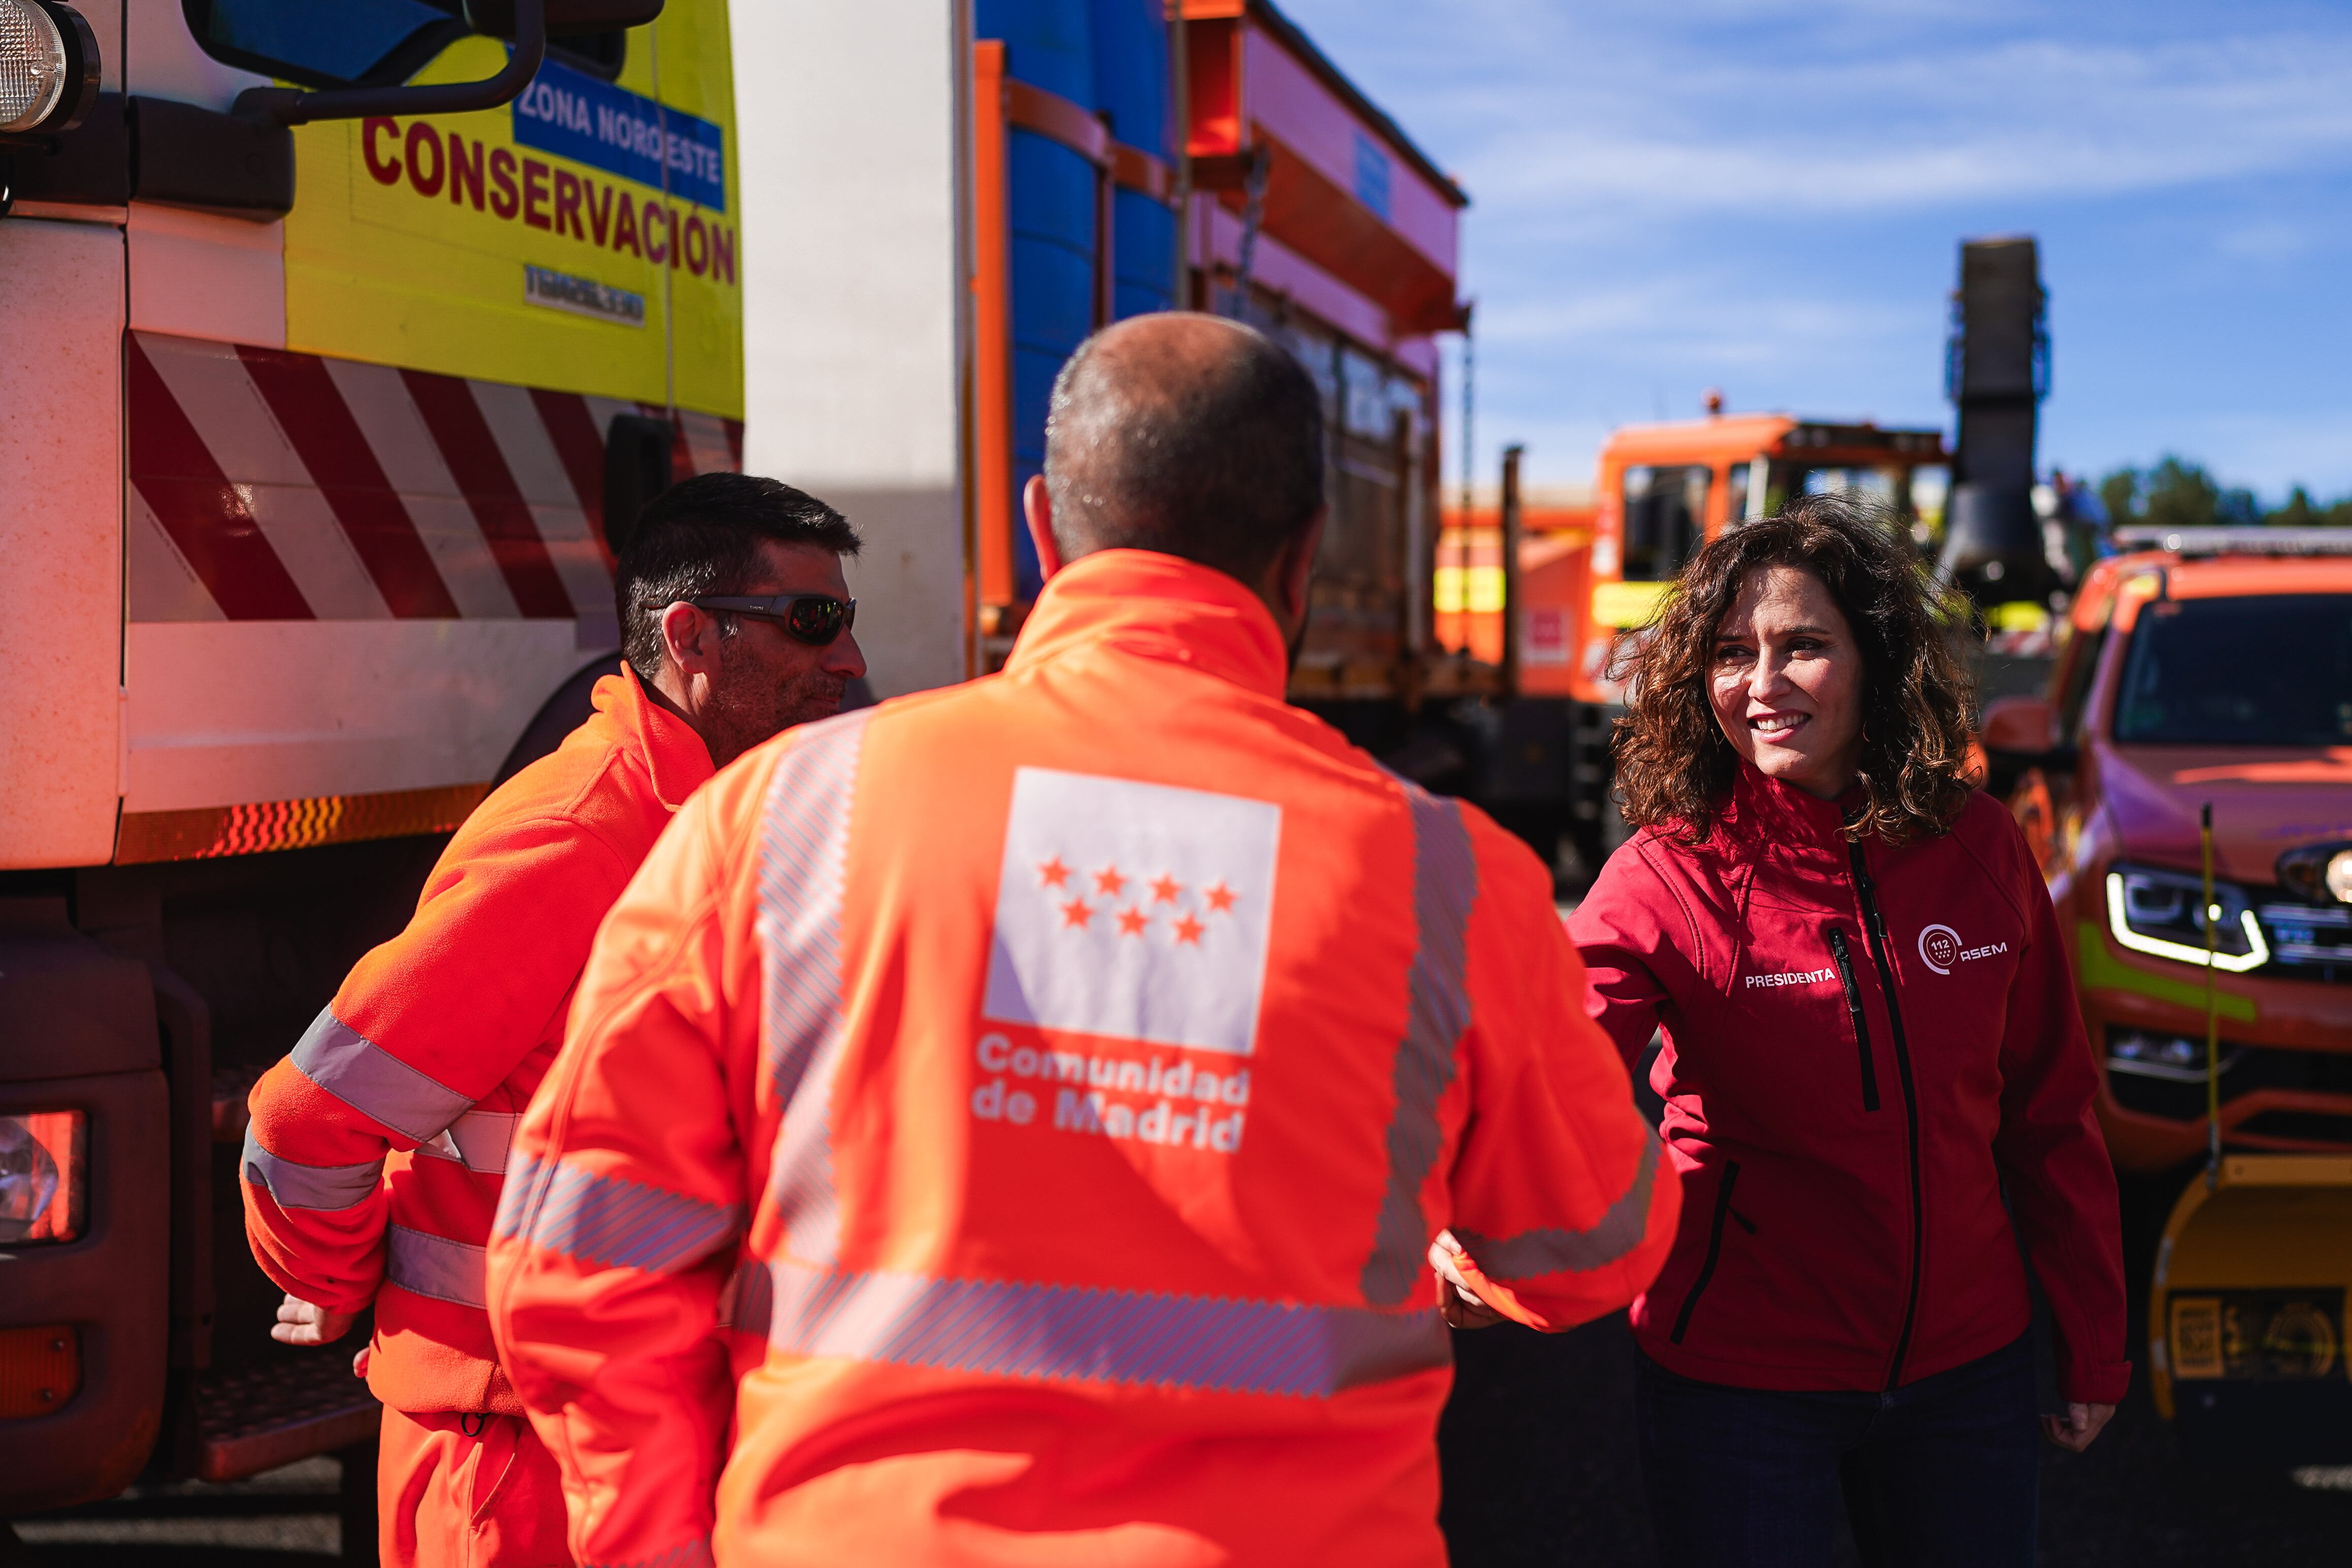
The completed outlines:
[[[1917,1382],[2025,1333],[2023,1239],[2063,1396],[2124,1396],[2098,1067],[1999,802],[1849,842],[1837,802],[1740,766],[1708,842],[1644,827],[1569,931],[1628,1063],[1665,1032],[1684,1218],[1632,1305],[1651,1359],[1752,1389]]]

